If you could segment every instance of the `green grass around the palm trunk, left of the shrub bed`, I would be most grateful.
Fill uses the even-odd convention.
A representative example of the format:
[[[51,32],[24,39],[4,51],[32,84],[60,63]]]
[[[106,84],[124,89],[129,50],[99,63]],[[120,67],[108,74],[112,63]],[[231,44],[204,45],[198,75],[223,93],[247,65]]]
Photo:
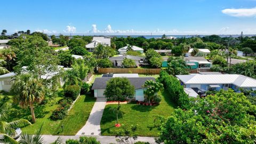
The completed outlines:
[[[34,134],[36,130],[43,124],[42,134],[53,134],[55,129],[57,129],[59,121],[52,121],[50,116],[52,111],[58,106],[57,102],[62,99],[63,91],[59,92],[59,96],[53,99],[50,102],[47,102],[42,105],[35,106],[35,115],[36,115],[36,123],[23,127],[22,131],[28,132],[29,134]],[[12,107],[9,110],[9,119],[10,121],[16,119],[27,119],[31,122],[31,113],[30,109],[22,109],[17,104],[13,103],[12,100],[9,101],[12,103]]]

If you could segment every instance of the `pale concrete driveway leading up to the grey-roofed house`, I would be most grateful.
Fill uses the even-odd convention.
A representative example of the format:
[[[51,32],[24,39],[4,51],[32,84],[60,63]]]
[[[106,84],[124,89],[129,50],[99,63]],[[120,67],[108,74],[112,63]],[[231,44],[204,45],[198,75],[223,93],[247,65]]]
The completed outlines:
[[[99,136],[101,134],[100,121],[106,106],[106,98],[97,98],[86,124],[76,135]]]

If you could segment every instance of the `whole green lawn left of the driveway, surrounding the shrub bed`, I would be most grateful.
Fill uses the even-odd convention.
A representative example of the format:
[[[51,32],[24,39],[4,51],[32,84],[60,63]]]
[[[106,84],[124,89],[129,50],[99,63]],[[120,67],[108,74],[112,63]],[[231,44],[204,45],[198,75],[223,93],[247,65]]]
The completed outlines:
[[[50,102],[35,106],[36,123],[23,127],[22,131],[34,134],[36,130],[43,124],[42,134],[61,134],[61,135],[75,135],[81,127],[86,123],[91,109],[94,105],[95,99],[93,96],[81,95],[75,102],[73,108],[68,115],[58,121],[50,119],[52,111],[57,108],[57,102],[63,98],[63,90],[60,90],[59,96]],[[0,99],[4,96],[0,95]],[[12,98],[12,96],[9,96]],[[12,99],[8,101],[11,104],[9,110],[9,121],[16,119],[28,119],[31,121],[30,109],[21,109],[17,104],[14,104]],[[61,125],[64,125],[62,132]]]

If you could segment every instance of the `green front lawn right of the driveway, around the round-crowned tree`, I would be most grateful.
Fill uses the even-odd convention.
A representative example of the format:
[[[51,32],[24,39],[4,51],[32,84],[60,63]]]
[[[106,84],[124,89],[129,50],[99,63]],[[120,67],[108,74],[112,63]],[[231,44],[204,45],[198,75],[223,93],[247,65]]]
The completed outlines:
[[[176,107],[172,102],[170,95],[167,92],[159,92],[162,95],[162,101],[158,106],[142,106],[136,103],[128,103],[121,106],[124,112],[123,118],[119,119],[122,125],[136,125],[138,124],[137,134],[139,136],[157,137],[158,130],[154,126],[154,116],[168,117],[172,115]],[[102,135],[115,135],[115,132],[122,129],[115,127],[116,117],[110,111],[111,107],[117,105],[107,105],[101,119],[101,134]]]

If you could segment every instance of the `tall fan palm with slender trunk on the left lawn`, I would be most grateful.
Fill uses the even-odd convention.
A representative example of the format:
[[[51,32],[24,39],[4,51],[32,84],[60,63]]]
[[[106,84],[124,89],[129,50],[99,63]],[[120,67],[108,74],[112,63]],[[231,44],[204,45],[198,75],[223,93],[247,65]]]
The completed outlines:
[[[35,123],[34,103],[44,99],[43,84],[29,73],[17,75],[11,81],[14,81],[10,91],[14,94],[14,101],[18,102],[22,108],[30,107],[32,122]]]

